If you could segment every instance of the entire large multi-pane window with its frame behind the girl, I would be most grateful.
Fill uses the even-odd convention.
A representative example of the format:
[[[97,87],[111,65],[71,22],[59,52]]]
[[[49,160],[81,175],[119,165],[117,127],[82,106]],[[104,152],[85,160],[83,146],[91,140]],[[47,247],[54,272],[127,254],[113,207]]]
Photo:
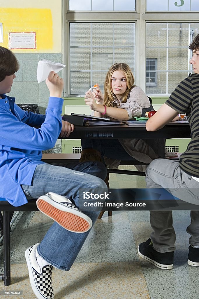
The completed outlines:
[[[149,95],[168,95],[192,72],[199,0],[65,0],[64,96],[84,95],[126,62]]]

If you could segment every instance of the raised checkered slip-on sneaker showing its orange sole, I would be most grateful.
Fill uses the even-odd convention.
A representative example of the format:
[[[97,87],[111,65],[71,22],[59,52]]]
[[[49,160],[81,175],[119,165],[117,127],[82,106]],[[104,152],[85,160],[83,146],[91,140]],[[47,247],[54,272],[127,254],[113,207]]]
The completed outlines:
[[[92,227],[92,220],[82,213],[70,199],[49,192],[37,199],[37,208],[63,228],[74,233],[85,233]]]

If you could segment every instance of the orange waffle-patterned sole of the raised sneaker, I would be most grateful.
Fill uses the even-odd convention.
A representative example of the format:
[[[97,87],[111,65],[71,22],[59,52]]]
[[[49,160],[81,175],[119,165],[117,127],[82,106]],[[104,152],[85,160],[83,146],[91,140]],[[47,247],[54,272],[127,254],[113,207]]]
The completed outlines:
[[[55,220],[68,231],[84,233],[89,228],[89,223],[84,218],[70,212],[61,211],[43,199],[37,200],[37,207],[42,213]]]

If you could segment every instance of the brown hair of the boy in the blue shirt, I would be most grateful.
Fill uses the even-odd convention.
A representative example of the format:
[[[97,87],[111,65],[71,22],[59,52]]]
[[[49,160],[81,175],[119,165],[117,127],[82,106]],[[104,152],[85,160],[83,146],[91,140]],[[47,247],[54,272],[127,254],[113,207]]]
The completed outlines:
[[[0,82],[6,76],[13,75],[19,69],[18,60],[15,54],[7,48],[0,47]]]

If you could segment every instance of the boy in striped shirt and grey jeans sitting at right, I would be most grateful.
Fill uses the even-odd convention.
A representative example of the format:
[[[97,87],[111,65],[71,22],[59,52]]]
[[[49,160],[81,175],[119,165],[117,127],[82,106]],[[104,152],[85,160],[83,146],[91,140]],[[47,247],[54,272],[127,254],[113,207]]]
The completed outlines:
[[[199,205],[199,34],[189,48],[194,74],[184,79],[169,99],[146,123],[147,131],[161,129],[178,113],[186,113],[191,141],[179,160],[156,159],[146,170],[147,188],[165,188],[185,202]],[[199,206],[198,206],[199,210]],[[172,211],[150,211],[153,229],[150,238],[138,246],[138,254],[160,269],[172,269],[175,251],[175,230]],[[199,211],[191,211],[188,264],[199,266]]]

